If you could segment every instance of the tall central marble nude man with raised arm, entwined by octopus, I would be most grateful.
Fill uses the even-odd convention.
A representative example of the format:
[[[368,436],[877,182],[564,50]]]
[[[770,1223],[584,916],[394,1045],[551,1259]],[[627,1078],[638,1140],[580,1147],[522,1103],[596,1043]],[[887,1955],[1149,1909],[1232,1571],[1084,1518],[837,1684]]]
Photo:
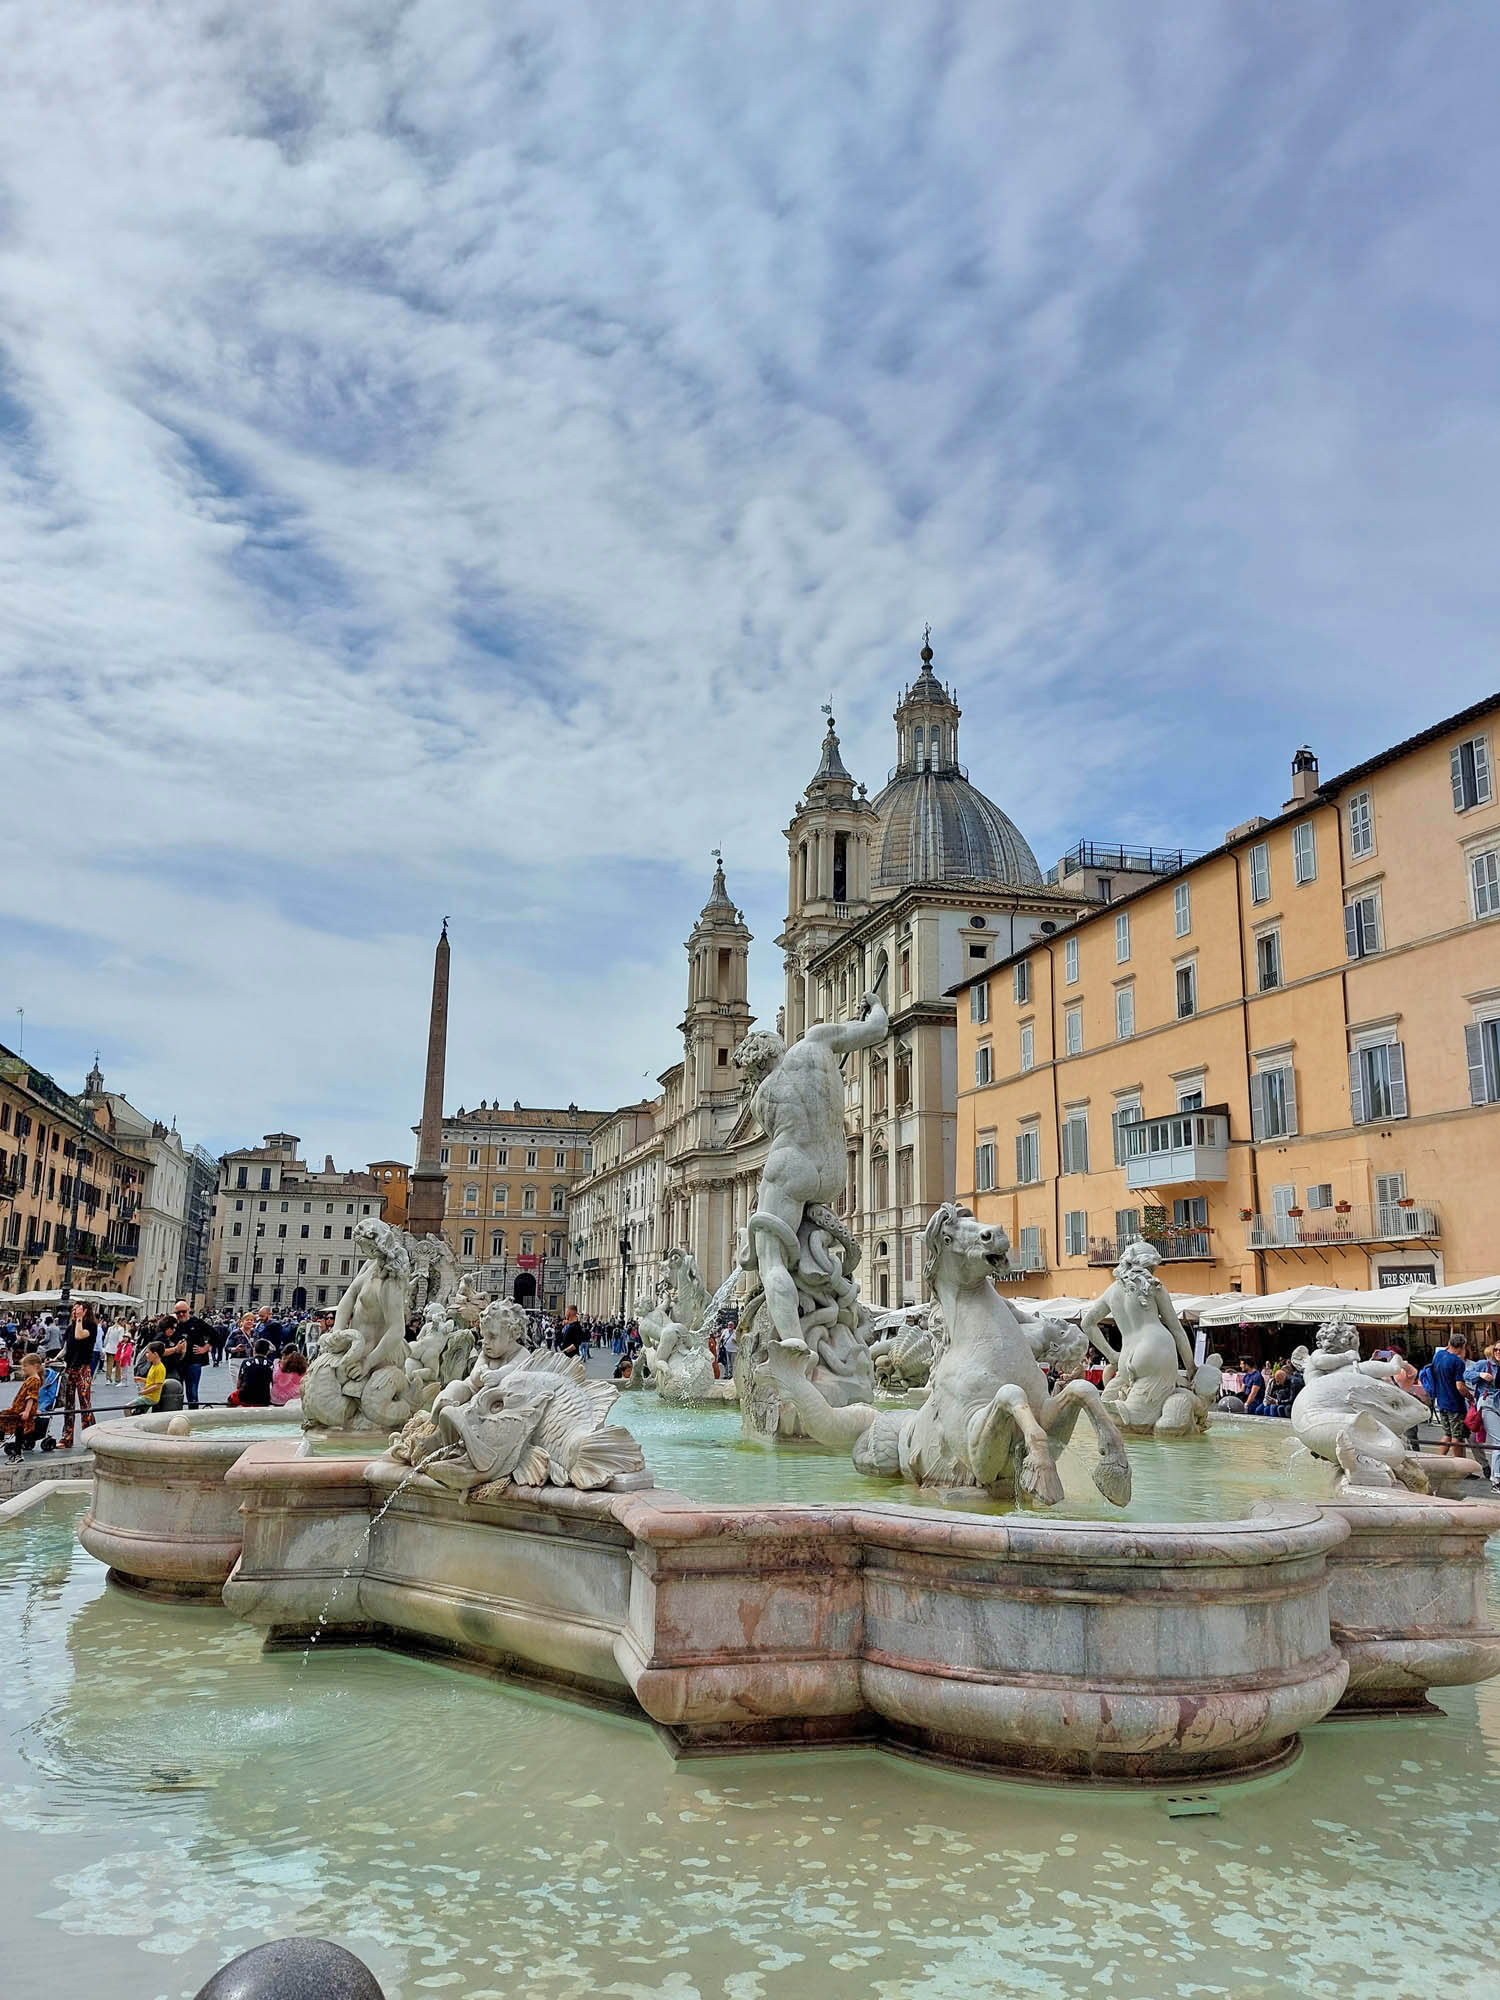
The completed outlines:
[[[810,1368],[810,1382],[828,1404],[866,1404],[874,1396],[852,1276],[860,1252],[828,1204],[844,1186],[838,1058],[874,1048],[888,1032],[884,1006],[866,994],[856,1022],[820,1022],[792,1048],[780,1034],[758,1030],[734,1050],[770,1140],[756,1212],[738,1252],[752,1290],[740,1312],[734,1368],[746,1428],[760,1436],[804,1430],[802,1412],[780,1396],[784,1372],[766,1366],[772,1350]]]

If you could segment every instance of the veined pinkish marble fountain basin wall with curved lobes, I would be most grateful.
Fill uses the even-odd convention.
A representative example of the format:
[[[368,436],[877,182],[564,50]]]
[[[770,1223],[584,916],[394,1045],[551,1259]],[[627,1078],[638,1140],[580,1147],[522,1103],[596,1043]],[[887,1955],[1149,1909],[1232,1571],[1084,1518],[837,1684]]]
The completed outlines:
[[[912,1506],[858,1478],[844,1494],[848,1468],[810,1452],[750,1452],[728,1480],[804,1482],[830,1494],[816,1502],[464,1502],[370,1456],[378,1440],[310,1452],[294,1422],[266,1436],[266,1412],[242,1416],[188,1438],[158,1418],[94,1432],[80,1540],[118,1580],[222,1598],[270,1648],[376,1644],[614,1706],[678,1754],[878,1742],[1182,1784],[1272,1770],[1330,1712],[1420,1710],[1432,1686],[1500,1672],[1484,1606],[1500,1506],[1274,1482],[1252,1498],[1230,1458],[1264,1428],[1140,1454],[1150,1512],[1174,1478],[1210,1504],[1230,1454],[1238,1518],[1092,1520]],[[688,1422],[692,1450],[718,1424]],[[650,1462],[712,1488],[720,1456],[674,1452],[672,1426]]]

